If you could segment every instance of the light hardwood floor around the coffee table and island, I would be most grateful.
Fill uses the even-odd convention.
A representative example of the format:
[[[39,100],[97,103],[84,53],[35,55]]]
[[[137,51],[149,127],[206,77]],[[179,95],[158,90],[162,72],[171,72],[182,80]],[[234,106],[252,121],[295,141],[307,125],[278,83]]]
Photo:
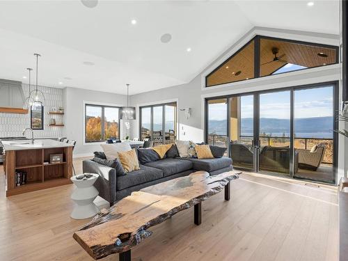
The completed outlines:
[[[80,173],[81,159],[74,166]],[[93,260],[72,239],[89,220],[70,219],[74,185],[6,198],[4,182],[1,166],[1,261]],[[334,187],[253,173],[231,184],[230,201],[219,193],[203,202],[200,226],[193,224],[193,208],[179,212],[151,229],[132,249],[133,260],[338,260]]]

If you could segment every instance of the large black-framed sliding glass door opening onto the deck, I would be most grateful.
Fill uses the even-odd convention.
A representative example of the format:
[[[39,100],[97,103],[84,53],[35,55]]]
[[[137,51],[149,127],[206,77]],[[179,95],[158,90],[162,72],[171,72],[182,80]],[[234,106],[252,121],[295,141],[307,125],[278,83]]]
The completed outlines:
[[[335,83],[207,100],[206,141],[235,168],[335,183]]]

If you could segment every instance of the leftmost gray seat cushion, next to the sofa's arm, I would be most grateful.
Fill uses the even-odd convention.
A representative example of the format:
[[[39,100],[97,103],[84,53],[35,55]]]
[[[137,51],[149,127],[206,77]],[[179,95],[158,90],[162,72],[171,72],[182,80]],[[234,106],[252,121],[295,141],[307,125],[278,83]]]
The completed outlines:
[[[160,169],[140,165],[138,171],[132,171],[127,173],[125,176],[117,177],[116,189],[127,189],[152,180],[158,180],[161,177],[163,177],[163,172]]]

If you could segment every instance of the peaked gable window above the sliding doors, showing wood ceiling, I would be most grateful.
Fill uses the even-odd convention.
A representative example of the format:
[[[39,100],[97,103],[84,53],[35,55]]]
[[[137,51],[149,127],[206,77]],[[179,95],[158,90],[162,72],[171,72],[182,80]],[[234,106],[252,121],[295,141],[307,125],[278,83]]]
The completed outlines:
[[[338,63],[338,47],[256,35],[205,77],[205,86]]]

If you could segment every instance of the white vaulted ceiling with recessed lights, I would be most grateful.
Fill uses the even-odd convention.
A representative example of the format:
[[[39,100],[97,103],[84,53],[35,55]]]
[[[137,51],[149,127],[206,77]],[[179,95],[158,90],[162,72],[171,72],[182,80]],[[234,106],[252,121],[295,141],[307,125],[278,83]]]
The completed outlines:
[[[26,82],[38,52],[42,85],[125,94],[129,83],[135,94],[184,84],[254,26],[338,34],[339,2],[307,2],[0,1],[0,78]]]

